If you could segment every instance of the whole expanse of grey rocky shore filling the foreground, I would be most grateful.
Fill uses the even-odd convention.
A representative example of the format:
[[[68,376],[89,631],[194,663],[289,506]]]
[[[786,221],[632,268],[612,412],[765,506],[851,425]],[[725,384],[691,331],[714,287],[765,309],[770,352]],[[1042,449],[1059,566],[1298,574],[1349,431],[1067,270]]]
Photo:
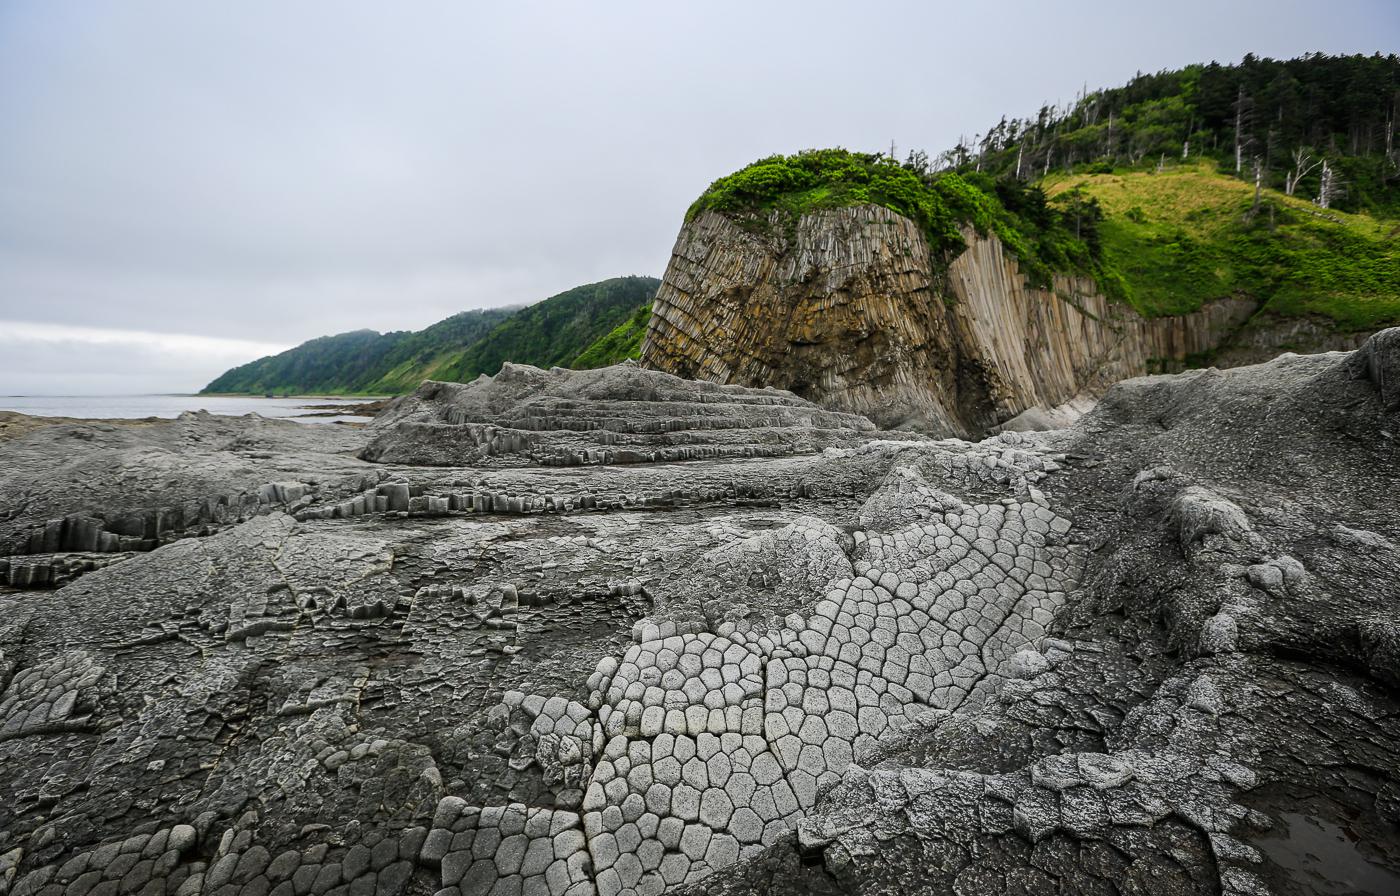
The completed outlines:
[[[617,367],[0,441],[0,893],[1400,892],[1400,330],[893,440]]]

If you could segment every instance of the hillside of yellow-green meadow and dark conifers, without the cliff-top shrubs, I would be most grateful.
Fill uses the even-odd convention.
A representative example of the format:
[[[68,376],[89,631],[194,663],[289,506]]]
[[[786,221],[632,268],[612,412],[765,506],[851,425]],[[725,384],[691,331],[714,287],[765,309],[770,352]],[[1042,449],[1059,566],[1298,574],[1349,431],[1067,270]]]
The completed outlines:
[[[949,168],[1032,183],[1149,316],[1250,295],[1341,330],[1400,323],[1400,56],[1187,66],[1001,119]],[[1084,230],[1088,224],[1088,231]]]

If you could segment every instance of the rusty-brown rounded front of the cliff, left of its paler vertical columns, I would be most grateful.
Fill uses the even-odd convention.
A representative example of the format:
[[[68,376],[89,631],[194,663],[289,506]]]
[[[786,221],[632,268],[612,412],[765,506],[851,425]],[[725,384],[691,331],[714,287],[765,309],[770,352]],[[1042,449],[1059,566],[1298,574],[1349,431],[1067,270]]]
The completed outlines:
[[[946,427],[934,396],[956,389],[956,358],[930,272],[914,223],[878,206],[805,216],[791,239],[706,211],[676,241],[641,363]]]

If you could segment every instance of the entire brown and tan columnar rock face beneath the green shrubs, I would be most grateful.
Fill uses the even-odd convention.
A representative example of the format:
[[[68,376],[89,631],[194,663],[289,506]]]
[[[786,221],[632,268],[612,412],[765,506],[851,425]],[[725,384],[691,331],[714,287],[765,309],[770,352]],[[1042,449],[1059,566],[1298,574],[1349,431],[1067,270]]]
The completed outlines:
[[[944,274],[917,225],[879,206],[808,214],[791,235],[703,213],[676,241],[641,361],[969,435],[1205,353],[1254,308],[1144,321],[1082,279],[1028,288],[995,237],[965,235]]]

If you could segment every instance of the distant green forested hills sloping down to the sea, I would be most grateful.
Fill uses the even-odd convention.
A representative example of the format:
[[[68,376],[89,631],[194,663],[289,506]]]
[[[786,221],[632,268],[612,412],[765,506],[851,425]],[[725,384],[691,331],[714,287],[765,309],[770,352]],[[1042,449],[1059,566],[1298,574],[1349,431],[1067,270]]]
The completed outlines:
[[[417,332],[323,336],[235,367],[204,392],[395,395],[416,389],[424,379],[466,382],[496,374],[505,361],[538,367],[616,364],[636,357],[637,344],[619,343],[615,330],[626,328],[651,301],[658,283],[654,277],[616,277],[525,308],[466,311]]]

